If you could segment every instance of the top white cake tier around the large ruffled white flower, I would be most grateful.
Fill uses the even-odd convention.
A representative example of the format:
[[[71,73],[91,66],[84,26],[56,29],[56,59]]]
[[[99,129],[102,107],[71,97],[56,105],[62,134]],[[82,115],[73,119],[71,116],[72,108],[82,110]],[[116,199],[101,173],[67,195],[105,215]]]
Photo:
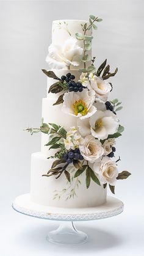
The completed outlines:
[[[82,30],[82,25],[87,23],[87,26],[90,24],[85,20],[55,20],[52,22],[52,45],[63,46],[67,42],[68,38],[73,37],[76,39],[76,32],[84,35]],[[92,35],[92,28],[86,32],[85,35]],[[84,40],[77,40],[76,45],[84,49]],[[69,47],[69,46],[68,46]],[[87,67],[91,65],[92,51],[87,51],[88,56],[90,56],[90,62],[87,62]],[[81,58],[79,58],[81,59]],[[76,70],[79,68],[84,68],[84,62],[79,62],[79,66],[71,65],[71,70]],[[64,68],[64,69],[67,69]]]

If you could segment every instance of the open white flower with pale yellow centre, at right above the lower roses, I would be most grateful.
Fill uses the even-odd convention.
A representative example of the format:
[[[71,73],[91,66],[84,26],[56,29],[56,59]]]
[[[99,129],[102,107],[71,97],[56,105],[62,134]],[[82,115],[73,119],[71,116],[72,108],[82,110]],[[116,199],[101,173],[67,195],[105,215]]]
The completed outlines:
[[[98,139],[107,139],[109,134],[117,132],[118,126],[117,115],[109,110],[98,110],[90,117],[91,133]]]

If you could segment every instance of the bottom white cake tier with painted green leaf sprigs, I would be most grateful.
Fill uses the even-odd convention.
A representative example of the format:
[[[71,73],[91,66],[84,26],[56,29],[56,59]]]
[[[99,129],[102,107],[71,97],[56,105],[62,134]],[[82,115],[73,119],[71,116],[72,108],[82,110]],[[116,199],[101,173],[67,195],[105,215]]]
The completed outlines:
[[[83,208],[96,207],[106,202],[106,188],[93,181],[90,187],[86,188],[85,172],[78,178],[72,178],[74,172],[71,172],[73,180],[71,183],[67,181],[64,174],[58,179],[55,176],[42,176],[51,169],[53,161],[54,159],[47,159],[41,152],[32,154],[31,200],[34,203],[53,207]]]

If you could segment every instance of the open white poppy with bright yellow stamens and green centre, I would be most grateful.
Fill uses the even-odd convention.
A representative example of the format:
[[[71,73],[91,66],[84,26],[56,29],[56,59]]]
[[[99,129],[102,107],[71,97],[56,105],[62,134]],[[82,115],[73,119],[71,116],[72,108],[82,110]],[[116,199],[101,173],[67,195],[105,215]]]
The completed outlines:
[[[84,89],[82,92],[66,92],[63,96],[62,111],[85,119],[96,112],[96,108],[93,106],[94,101],[94,90]]]

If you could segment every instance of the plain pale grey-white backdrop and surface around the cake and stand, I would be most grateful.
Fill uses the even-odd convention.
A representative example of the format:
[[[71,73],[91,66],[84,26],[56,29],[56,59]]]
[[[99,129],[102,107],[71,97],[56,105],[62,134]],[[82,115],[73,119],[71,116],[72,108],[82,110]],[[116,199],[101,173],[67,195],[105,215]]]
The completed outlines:
[[[0,1],[1,232],[2,256],[19,255],[143,255],[143,13],[140,0]],[[119,113],[126,127],[117,140],[120,171],[116,197],[124,213],[112,219],[76,223],[88,243],[56,246],[45,241],[59,224],[23,216],[12,210],[16,196],[29,192],[31,153],[40,150],[40,135],[23,131],[41,122],[46,95],[45,57],[51,43],[52,20],[103,18],[93,35],[96,67],[107,57],[118,67],[112,98],[123,101]]]

